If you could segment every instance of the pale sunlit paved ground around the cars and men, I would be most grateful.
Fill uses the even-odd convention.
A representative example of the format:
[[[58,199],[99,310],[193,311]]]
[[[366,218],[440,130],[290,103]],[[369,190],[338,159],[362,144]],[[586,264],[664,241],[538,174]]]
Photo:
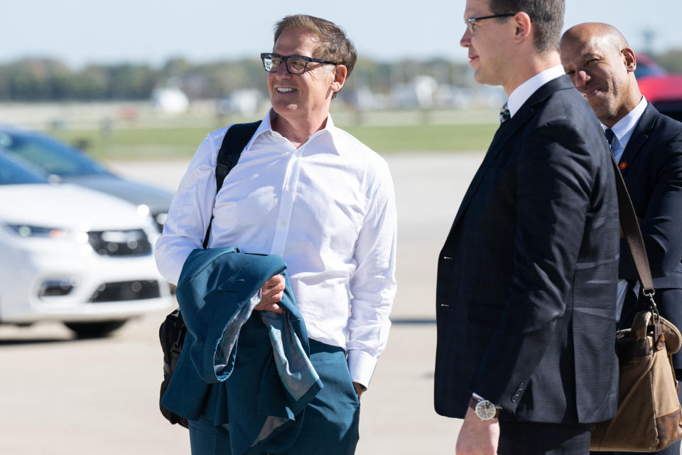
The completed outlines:
[[[398,294],[389,344],[362,396],[359,455],[453,453],[461,421],[433,411],[435,266],[482,158],[445,152],[386,158],[399,210]],[[112,168],[175,190],[187,164]],[[187,431],[158,412],[164,316],[88,341],[74,340],[58,323],[0,326],[0,454],[189,454]]]

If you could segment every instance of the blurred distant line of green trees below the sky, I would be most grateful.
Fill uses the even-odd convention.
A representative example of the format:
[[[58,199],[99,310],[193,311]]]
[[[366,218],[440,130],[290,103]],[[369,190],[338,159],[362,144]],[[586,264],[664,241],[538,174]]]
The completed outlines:
[[[682,49],[654,55],[664,69],[682,73]],[[347,89],[369,87],[388,93],[391,86],[416,75],[430,75],[441,84],[474,84],[467,63],[444,59],[382,63],[359,60]],[[87,65],[74,70],[60,60],[25,58],[0,63],[0,102],[147,100],[157,87],[178,87],[190,100],[216,99],[240,88],[266,94],[266,73],[259,60],[190,63],[173,58],[161,67],[120,63]]]

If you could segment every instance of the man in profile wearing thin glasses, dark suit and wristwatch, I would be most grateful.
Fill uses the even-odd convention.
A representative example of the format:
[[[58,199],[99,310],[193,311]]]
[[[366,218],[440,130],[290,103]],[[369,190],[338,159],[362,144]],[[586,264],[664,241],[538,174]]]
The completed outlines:
[[[435,410],[464,418],[457,454],[587,454],[616,412],[615,176],[561,67],[563,9],[466,4],[474,77],[509,100],[438,259]]]

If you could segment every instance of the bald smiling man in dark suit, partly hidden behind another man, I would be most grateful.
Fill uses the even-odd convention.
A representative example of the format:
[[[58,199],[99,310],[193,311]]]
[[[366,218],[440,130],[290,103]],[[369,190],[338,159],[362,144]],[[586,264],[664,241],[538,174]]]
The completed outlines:
[[[661,316],[682,327],[682,123],[660,114],[642,97],[634,77],[634,51],[616,28],[581,23],[568,29],[561,38],[561,62],[611,138],[641,220]],[[620,252],[620,326],[627,328],[649,299],[638,299],[637,271],[624,239]],[[673,357],[673,364],[679,380],[682,353]],[[656,453],[678,455],[680,443]]]

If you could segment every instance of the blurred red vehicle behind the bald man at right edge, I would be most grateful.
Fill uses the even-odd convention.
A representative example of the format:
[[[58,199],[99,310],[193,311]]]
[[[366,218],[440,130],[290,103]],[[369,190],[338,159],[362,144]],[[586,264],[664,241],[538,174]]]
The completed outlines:
[[[682,75],[666,73],[654,60],[644,54],[637,55],[639,90],[661,114],[682,122]]]

